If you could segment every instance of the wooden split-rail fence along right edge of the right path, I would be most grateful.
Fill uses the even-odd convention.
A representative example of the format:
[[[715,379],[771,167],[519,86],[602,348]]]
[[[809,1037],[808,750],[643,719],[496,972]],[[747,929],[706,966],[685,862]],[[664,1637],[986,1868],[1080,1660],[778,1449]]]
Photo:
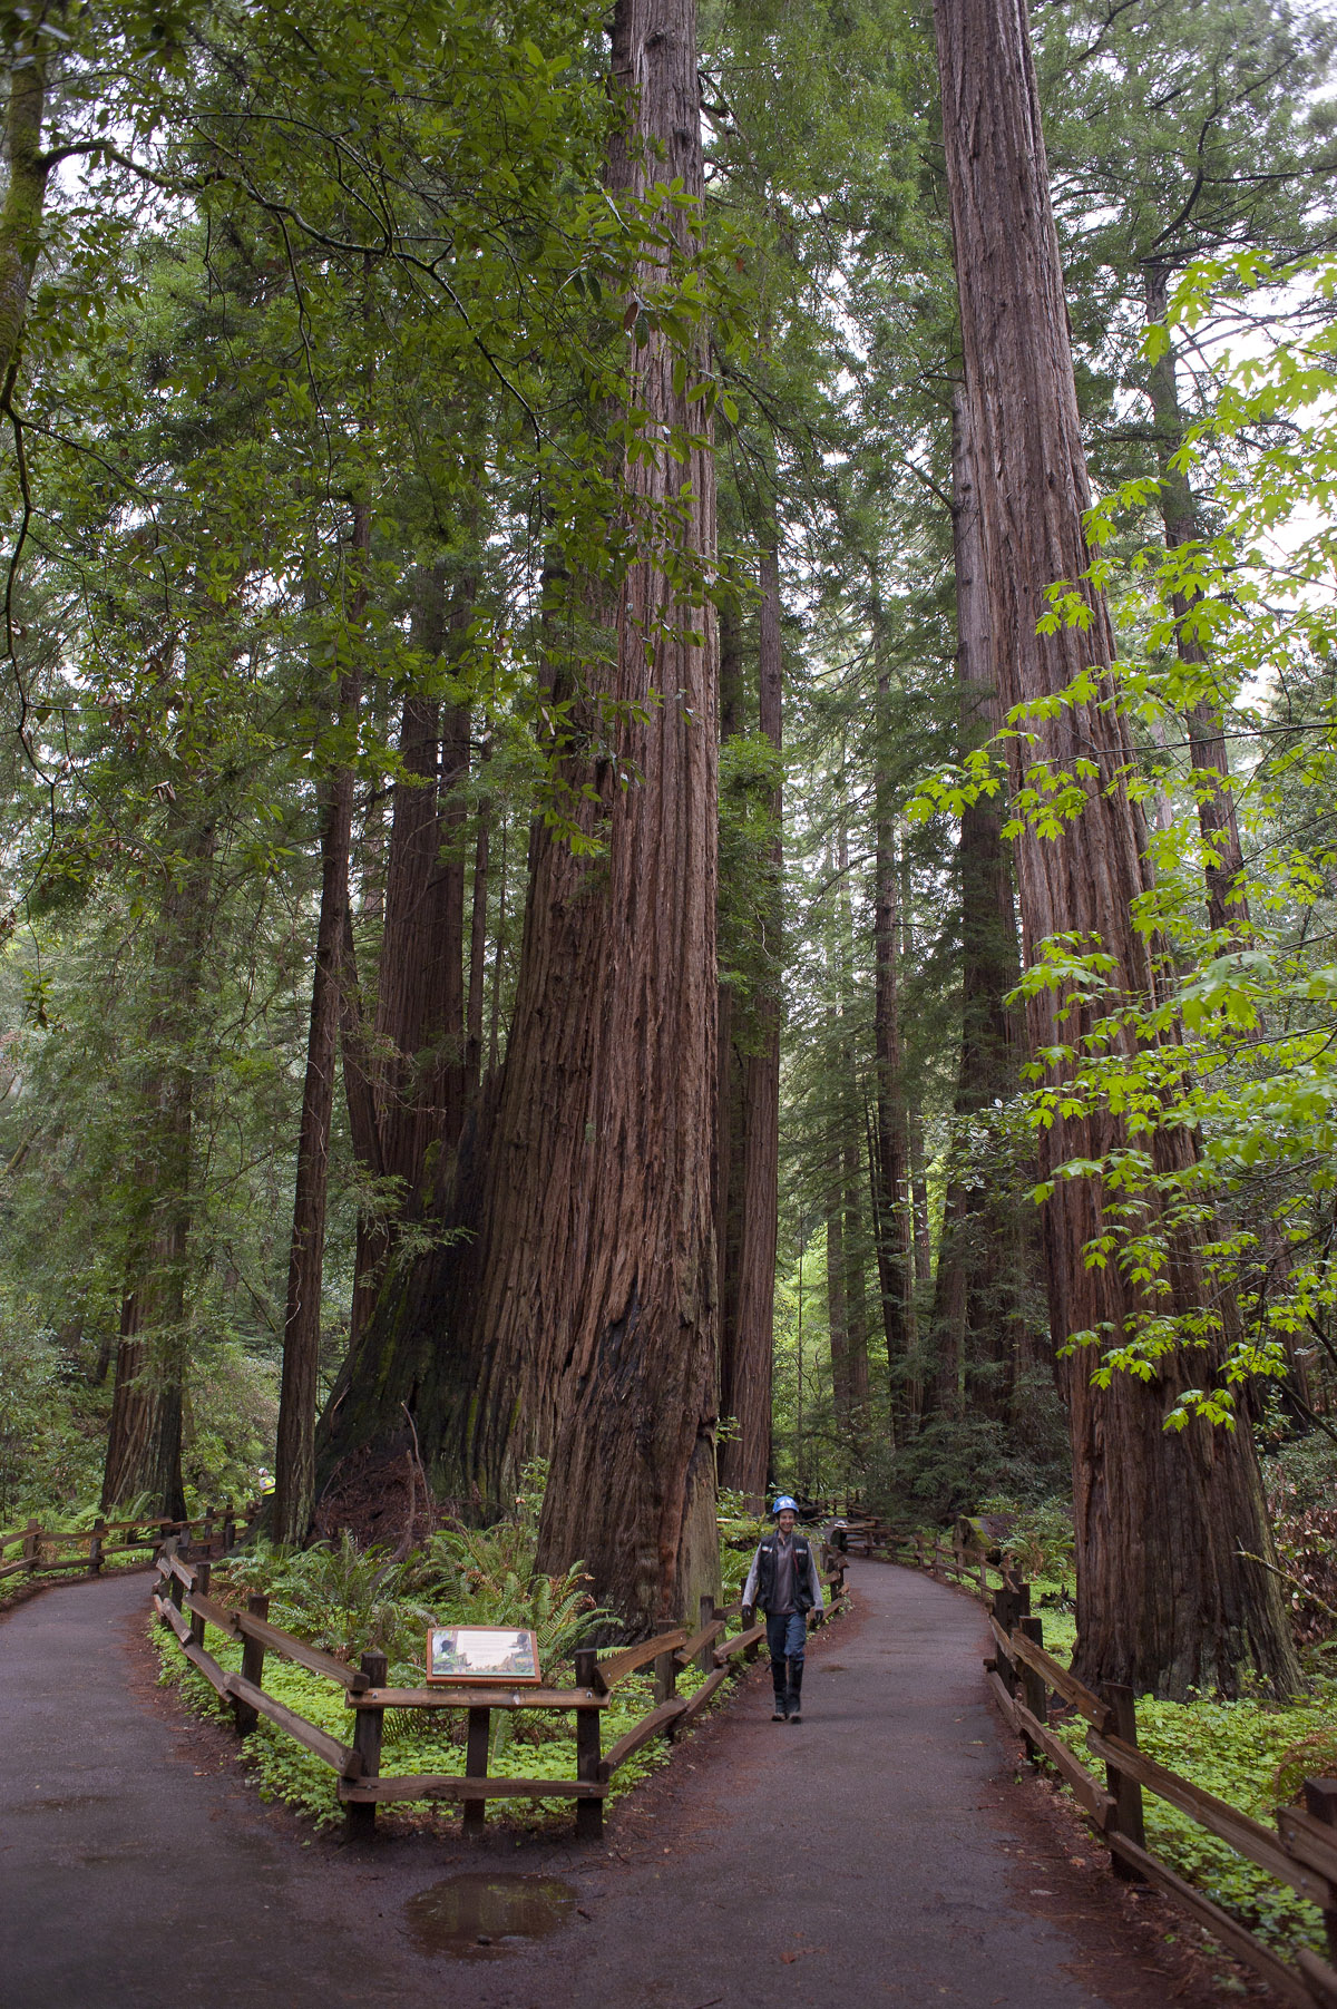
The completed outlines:
[[[986,1551],[972,1523],[958,1521],[952,1543],[942,1537],[905,1535],[871,1517],[851,1515],[837,1531],[845,1551],[873,1561],[895,1561],[956,1581],[980,1595],[986,1585]],[[1030,1762],[1048,1760],[1072,1788],[1106,1848],[1116,1876],[1150,1882],[1188,1913],[1223,1947],[1253,1967],[1277,1995],[1297,2009],[1337,2009],[1337,1780],[1307,1778],[1305,1806],[1279,1806],[1275,1828],[1158,1764],[1138,1748],[1136,1698],[1130,1688],[1102,1682],[1092,1694],[1044,1647],[1044,1623],[1030,1609],[1030,1585],[1002,1573],[984,1589],[994,1651],[984,1661],[990,1692],[1004,1722],[1026,1746]],[[1086,1748],[1104,1776],[1054,1734],[1054,1720],[1076,1712],[1086,1720]],[[1329,1961],[1309,1947],[1291,1961],[1265,1947],[1207,1892],[1186,1882],[1146,1846],[1144,1802],[1150,1792],[1188,1820],[1227,1842],[1277,1882],[1291,1884],[1323,1913]]]

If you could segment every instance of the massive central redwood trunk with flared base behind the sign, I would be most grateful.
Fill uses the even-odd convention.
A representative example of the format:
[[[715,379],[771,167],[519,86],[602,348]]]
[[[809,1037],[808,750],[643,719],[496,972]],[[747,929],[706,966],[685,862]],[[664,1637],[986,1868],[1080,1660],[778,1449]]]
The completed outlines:
[[[703,193],[695,30],[693,0],[616,6],[614,195],[675,177]],[[685,211],[662,221],[691,257]],[[646,253],[638,293],[662,281]],[[675,356],[650,331],[628,404],[650,412],[652,440],[699,428],[689,388],[675,390]],[[636,520],[681,512],[709,569],[709,452],[656,450],[622,480]],[[460,1143],[452,1225],[468,1240],[381,1294],[327,1412],[323,1461],[391,1448],[406,1404],[438,1481],[484,1511],[524,1457],[546,1455],[540,1567],[582,1559],[598,1597],[648,1629],[717,1589],[719,691],[713,611],[683,605],[634,550],[616,591],[568,589],[584,623],[574,605],[552,623],[578,635],[594,615],[590,647],[558,669],[574,723],[562,775],[594,848],[532,832],[506,1061]],[[556,571],[548,589],[564,591]]]

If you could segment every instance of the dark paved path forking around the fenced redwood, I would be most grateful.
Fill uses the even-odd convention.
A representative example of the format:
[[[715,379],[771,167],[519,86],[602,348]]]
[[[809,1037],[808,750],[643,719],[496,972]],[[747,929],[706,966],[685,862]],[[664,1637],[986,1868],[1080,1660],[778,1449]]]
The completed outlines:
[[[0,2003],[1162,2009],[1148,1937],[1012,1784],[978,1607],[851,1583],[803,1724],[757,1669],[590,1846],[311,1838],[155,1688],[147,1575],[52,1589],[0,1621]],[[538,1937],[466,1907],[450,1939],[444,1905],[492,1882]]]

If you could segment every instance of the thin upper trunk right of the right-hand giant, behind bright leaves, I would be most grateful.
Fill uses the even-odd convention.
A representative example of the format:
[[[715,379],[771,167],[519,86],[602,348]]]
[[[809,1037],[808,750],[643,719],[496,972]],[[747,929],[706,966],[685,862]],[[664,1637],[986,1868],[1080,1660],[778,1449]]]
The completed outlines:
[[[1144,279],[1146,319],[1150,325],[1164,323],[1168,295],[1168,267],[1150,263]],[[1174,350],[1170,346],[1152,364],[1146,390],[1156,428],[1164,542],[1166,550],[1178,550],[1180,544],[1190,544],[1198,536],[1198,512],[1188,476],[1172,466],[1174,454],[1184,444],[1184,414],[1178,404]],[[1196,635],[1184,629],[1190,605],[1182,593],[1172,597],[1178,659],[1180,663],[1207,663],[1207,649]],[[1207,918],[1213,928],[1229,930],[1237,940],[1243,940],[1249,934],[1249,904],[1239,898],[1233,900],[1231,892],[1245,868],[1245,860],[1239,844],[1231,755],[1221,711],[1211,699],[1202,697],[1196,705],[1190,705],[1186,725],[1188,757],[1198,798],[1198,830],[1202,832],[1205,850]]]

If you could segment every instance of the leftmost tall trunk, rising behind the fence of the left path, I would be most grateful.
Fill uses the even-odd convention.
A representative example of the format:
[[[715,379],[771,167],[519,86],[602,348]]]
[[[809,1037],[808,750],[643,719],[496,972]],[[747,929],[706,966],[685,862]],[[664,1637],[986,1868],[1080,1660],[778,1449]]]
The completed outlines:
[[[189,822],[185,784],[167,826],[167,868],[153,944],[149,1071],[141,1085],[143,1133],[135,1153],[135,1217],[120,1300],[116,1380],[102,1471],[102,1507],[151,1495],[181,1519],[181,1416],[187,1366],[187,1256],[191,1236],[191,1131],[201,970],[209,940],[215,832]]]

